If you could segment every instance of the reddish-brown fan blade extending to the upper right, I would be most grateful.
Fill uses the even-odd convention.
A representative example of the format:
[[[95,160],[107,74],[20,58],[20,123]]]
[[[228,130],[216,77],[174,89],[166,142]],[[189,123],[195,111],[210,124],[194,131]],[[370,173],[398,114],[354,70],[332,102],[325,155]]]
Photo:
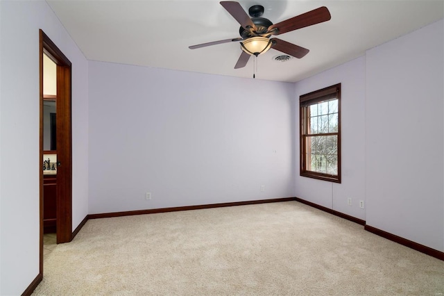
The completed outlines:
[[[305,28],[306,26],[327,22],[331,18],[330,11],[328,11],[325,6],[322,6],[315,10],[311,10],[308,13],[303,13],[302,15],[291,17],[291,19],[287,19],[278,24],[273,24],[268,28],[268,31],[273,30],[273,28],[278,28],[278,31],[275,31],[273,35],[279,35],[297,30],[298,28]]]

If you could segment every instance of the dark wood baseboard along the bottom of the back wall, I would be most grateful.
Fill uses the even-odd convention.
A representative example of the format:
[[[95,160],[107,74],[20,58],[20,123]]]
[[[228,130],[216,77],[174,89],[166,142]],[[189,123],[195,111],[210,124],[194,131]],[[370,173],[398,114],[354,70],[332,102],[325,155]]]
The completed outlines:
[[[87,217],[88,217],[88,219],[99,219],[99,218],[122,217],[122,216],[130,216],[130,215],[145,215],[145,214],[155,214],[155,213],[200,210],[203,208],[222,208],[225,206],[246,206],[248,204],[267,204],[270,202],[291,202],[293,200],[295,200],[294,197],[283,197],[283,198],[276,198],[276,199],[259,199],[259,200],[252,200],[252,201],[247,201],[247,202],[225,202],[225,203],[221,203],[221,204],[203,204],[200,206],[178,206],[178,207],[174,207],[174,208],[153,208],[153,209],[149,209],[149,210],[139,210],[139,211],[89,214]]]

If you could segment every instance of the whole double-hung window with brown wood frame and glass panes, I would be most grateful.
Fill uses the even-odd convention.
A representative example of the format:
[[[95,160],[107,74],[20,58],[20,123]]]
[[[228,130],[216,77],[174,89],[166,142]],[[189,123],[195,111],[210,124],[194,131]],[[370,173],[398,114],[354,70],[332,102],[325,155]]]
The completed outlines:
[[[341,83],[303,94],[300,175],[341,183]]]

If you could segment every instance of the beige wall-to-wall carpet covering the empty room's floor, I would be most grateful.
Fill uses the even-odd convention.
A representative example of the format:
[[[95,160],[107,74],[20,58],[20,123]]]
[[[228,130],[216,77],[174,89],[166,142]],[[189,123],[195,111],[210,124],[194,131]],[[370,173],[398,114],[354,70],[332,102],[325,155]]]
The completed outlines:
[[[443,295],[444,262],[298,202],[89,220],[34,295]]]

